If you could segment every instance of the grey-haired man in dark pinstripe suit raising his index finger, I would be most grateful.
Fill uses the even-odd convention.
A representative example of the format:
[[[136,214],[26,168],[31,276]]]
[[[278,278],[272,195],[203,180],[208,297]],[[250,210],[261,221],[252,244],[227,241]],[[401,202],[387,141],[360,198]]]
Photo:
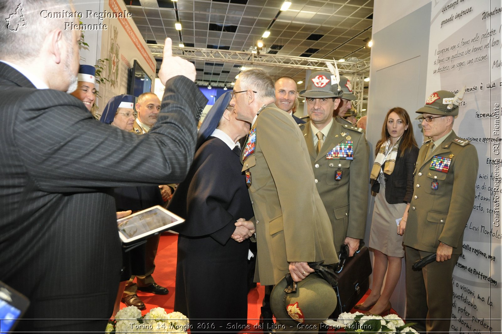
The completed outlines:
[[[9,18],[0,24],[0,281],[31,301],[25,318],[34,320],[20,330],[103,331],[121,268],[109,189],[181,182],[207,100],[193,83],[193,64],[172,57],[167,39],[156,125],[138,136],[100,124],[65,93],[77,73],[80,31],[64,30],[73,19],[40,16],[72,12],[68,1],[18,6],[0,2],[0,18]]]

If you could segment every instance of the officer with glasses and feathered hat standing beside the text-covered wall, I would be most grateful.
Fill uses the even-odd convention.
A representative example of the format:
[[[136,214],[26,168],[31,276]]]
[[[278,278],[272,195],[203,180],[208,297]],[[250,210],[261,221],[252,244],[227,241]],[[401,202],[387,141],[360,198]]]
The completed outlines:
[[[450,329],[453,269],[474,204],[476,148],[452,130],[459,102],[454,94],[437,91],[417,111],[430,139],[420,148],[408,221],[401,225],[406,224],[406,319],[417,322],[420,332]],[[436,261],[412,269],[431,254]]]

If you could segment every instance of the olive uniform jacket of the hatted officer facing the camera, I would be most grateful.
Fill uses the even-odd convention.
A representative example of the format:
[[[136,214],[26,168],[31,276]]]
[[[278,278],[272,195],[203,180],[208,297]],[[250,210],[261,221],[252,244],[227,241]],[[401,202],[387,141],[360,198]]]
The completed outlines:
[[[345,237],[364,238],[369,189],[367,142],[362,130],[334,121],[317,154],[311,122],[300,128],[309,150],[317,190],[333,228],[335,248],[340,252]],[[327,158],[327,154],[337,145],[350,141],[353,160]],[[336,179],[337,172],[341,172],[339,181]]]

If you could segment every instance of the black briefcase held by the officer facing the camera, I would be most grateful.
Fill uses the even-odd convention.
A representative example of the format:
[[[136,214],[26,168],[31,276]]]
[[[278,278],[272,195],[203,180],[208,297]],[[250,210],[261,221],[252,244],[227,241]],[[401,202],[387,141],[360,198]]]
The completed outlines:
[[[338,303],[331,319],[338,319],[343,312],[350,312],[355,304],[369,289],[369,275],[371,275],[371,260],[368,247],[361,241],[354,256],[348,257],[348,245],[343,245],[340,262],[335,268],[336,297]]]

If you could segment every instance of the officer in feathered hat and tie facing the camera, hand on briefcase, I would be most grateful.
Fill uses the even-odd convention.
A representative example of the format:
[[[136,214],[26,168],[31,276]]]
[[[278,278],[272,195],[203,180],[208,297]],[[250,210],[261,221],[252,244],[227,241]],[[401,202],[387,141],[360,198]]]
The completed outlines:
[[[348,244],[350,256],[364,237],[369,187],[368,146],[361,129],[334,121],[333,110],[345,96],[335,75],[311,74],[306,99],[309,122],[301,126],[315,183],[328,212],[337,252]]]

